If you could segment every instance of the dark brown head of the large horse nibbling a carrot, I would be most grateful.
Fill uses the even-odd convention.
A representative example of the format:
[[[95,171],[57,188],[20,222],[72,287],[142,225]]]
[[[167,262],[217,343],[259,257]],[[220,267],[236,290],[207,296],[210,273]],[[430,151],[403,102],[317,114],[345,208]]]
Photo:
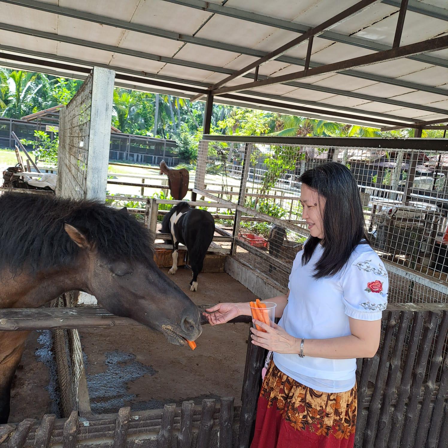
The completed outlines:
[[[145,229],[125,209],[109,213],[103,234],[98,227],[64,224],[80,248],[86,292],[111,313],[162,332],[172,344],[195,340],[202,331],[198,307],[155,265]]]

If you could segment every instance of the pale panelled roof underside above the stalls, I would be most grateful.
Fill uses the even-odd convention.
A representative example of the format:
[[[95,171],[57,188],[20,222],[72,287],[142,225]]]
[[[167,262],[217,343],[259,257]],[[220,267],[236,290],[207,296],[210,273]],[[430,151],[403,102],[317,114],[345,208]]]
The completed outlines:
[[[0,64],[78,78],[86,67],[103,65],[116,70],[120,86],[191,98],[355,3],[0,0]],[[376,3],[314,38],[310,66],[392,47],[399,3]],[[446,0],[409,0],[401,45],[447,33]],[[294,47],[261,65],[260,79],[301,70],[306,47]],[[228,85],[251,77],[249,73]],[[448,50],[259,87],[216,101],[370,126],[446,121]]]

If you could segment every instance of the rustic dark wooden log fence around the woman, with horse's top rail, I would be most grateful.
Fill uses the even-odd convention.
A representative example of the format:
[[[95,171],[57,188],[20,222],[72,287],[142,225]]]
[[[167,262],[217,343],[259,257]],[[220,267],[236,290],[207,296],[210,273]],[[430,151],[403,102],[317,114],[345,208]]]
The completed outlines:
[[[0,310],[0,330],[6,331],[115,325],[139,324],[92,308]],[[447,352],[446,304],[393,304],[384,311],[379,351],[358,363],[357,448],[448,446]],[[215,400],[205,400],[142,413],[46,415],[42,422],[0,426],[0,446],[247,448],[265,355],[248,344],[241,407],[222,398],[219,410]]]

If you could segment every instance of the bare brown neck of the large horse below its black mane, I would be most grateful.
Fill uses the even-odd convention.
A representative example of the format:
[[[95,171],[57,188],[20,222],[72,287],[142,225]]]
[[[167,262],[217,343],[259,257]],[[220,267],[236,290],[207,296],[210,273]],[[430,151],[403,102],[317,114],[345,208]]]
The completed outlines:
[[[62,293],[84,288],[82,276],[68,268],[16,276],[6,269],[0,271],[0,308],[37,308]]]

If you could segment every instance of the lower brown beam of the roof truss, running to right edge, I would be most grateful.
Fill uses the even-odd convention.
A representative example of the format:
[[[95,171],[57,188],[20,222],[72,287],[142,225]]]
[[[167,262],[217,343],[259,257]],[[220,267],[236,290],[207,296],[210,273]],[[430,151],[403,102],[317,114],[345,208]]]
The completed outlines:
[[[212,90],[212,94],[220,95],[223,93],[238,92],[240,90],[253,89],[256,87],[273,86],[275,84],[281,84],[282,82],[312,78],[314,76],[319,76],[326,73],[335,73],[340,70],[364,67],[366,65],[378,64],[379,62],[401,59],[413,54],[444,50],[445,48],[448,48],[448,35],[428,39],[422,42],[411,43],[410,45],[392,48],[391,50],[373,53],[371,55],[359,56],[352,59],[334,62],[332,64],[321,65],[320,67],[315,67],[306,71],[302,70],[300,72],[289,73],[283,76],[276,76],[247,84],[239,84],[237,86],[221,87],[220,89]]]

